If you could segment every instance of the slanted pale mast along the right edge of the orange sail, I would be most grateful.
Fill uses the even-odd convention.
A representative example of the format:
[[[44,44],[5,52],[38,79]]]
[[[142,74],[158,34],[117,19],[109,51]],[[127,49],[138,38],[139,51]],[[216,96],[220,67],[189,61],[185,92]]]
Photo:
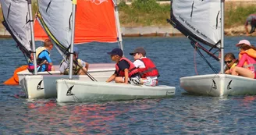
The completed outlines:
[[[120,27],[120,22],[119,22],[119,13],[118,13],[118,7],[117,7],[117,2],[116,0],[112,0],[114,5],[115,5],[115,18],[116,18],[116,29],[118,32],[118,41],[119,41],[119,48],[123,50],[123,39],[122,39],[122,33],[121,33],[121,27]]]

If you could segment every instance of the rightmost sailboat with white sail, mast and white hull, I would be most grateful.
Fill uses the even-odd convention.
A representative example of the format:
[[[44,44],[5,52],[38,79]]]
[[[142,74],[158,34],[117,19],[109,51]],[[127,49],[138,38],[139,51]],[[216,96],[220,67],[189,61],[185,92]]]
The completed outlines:
[[[191,45],[197,49],[203,58],[200,50],[217,61],[220,60],[221,63],[219,73],[214,70],[215,74],[180,78],[180,87],[190,94],[215,97],[256,94],[256,80],[244,76],[224,74],[223,18],[224,0],[172,0],[169,23],[190,39]],[[210,47],[210,49],[204,48],[203,45]],[[213,50],[220,51],[220,59]],[[212,68],[209,62],[208,65]]]

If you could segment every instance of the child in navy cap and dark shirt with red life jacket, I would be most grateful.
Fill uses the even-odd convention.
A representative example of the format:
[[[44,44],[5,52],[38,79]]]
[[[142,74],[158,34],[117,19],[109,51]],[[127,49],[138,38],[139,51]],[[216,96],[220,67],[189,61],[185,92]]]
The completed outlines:
[[[116,83],[140,83],[138,69],[133,65],[133,62],[123,57],[123,51],[120,48],[114,48],[112,52],[108,52],[108,55],[112,61],[116,62],[116,71],[106,82],[115,80]]]

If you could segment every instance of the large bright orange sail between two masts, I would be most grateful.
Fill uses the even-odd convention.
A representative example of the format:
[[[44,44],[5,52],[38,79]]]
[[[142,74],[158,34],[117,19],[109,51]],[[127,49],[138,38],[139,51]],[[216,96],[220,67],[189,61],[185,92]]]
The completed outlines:
[[[75,44],[91,41],[116,42],[114,3],[78,0],[76,5]]]

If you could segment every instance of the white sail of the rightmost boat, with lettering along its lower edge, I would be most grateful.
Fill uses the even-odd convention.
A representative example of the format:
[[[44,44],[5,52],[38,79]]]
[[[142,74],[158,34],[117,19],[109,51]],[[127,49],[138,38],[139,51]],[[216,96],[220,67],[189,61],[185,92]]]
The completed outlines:
[[[171,20],[184,35],[220,47],[221,0],[172,0]]]

